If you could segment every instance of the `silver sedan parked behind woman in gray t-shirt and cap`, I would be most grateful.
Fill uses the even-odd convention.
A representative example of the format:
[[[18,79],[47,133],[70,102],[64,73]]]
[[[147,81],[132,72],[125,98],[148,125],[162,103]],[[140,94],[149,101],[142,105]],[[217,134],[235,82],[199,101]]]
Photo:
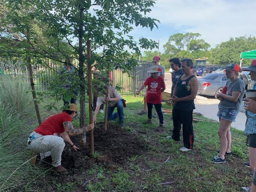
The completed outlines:
[[[225,73],[209,73],[198,79],[198,94],[215,96],[227,81]]]

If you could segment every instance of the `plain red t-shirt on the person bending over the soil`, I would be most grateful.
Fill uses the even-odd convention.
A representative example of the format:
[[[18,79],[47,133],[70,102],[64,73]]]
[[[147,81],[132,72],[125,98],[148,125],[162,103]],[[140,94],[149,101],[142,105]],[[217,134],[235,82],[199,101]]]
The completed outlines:
[[[65,131],[62,124],[65,121],[72,122],[71,116],[65,112],[60,112],[46,118],[34,131],[41,135],[53,135],[54,133],[58,135]]]

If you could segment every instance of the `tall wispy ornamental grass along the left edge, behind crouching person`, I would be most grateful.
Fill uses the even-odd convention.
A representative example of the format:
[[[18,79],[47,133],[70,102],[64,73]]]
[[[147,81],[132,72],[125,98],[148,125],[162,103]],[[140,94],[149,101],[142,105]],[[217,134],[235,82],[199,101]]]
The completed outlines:
[[[29,89],[25,76],[0,76],[0,191],[27,190],[40,174],[26,146],[33,128],[23,119],[34,111]]]

